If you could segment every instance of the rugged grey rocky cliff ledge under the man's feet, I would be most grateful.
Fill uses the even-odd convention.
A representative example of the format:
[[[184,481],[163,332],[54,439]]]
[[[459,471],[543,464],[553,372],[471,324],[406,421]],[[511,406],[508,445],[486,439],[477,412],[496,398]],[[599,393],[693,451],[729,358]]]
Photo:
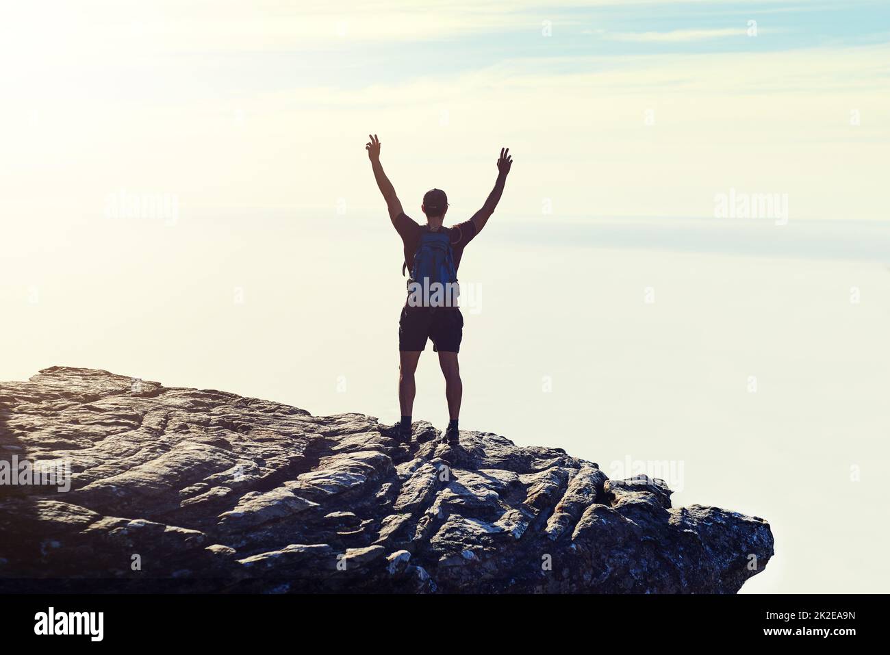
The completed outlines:
[[[85,368],[0,384],[0,589],[734,593],[773,554],[662,481],[435,437]]]

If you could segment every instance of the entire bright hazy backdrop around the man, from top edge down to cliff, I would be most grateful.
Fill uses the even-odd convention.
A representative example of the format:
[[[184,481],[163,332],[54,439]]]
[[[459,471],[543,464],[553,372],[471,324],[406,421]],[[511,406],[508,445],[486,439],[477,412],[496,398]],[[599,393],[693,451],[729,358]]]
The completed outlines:
[[[771,522],[746,592],[885,589],[888,5],[330,6],[0,8],[0,378],[393,421],[367,135],[406,211],[438,187],[453,222],[508,146],[461,264],[462,427],[676,465],[676,505]],[[444,424],[425,358],[415,416]]]

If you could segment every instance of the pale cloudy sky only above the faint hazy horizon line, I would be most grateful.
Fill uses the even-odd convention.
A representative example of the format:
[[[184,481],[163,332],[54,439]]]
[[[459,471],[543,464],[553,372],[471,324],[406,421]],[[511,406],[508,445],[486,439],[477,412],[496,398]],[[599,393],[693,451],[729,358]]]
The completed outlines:
[[[709,216],[731,188],[886,215],[886,3],[338,6],[7,4],[4,204],[374,209],[374,132],[414,208],[472,214],[506,144],[523,217]]]

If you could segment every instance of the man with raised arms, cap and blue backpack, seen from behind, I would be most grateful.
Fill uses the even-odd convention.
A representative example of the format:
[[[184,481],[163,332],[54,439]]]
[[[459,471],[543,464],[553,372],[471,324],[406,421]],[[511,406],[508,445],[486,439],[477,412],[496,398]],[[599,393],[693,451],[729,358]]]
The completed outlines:
[[[399,232],[404,246],[405,263],[402,272],[410,271],[408,300],[399,319],[399,404],[401,422],[397,429],[399,441],[411,440],[411,410],[416,392],[414,372],[420,353],[424,352],[427,338],[433,341],[433,351],[439,353],[439,365],[445,376],[445,397],[448,400],[449,425],[442,433],[442,441],[457,444],[457,415],[463,385],[457,367],[457,352],[464,332],[464,317],[457,306],[457,267],[466,245],[479,234],[489,216],[498,206],[504,192],[506,176],[510,173],[513,158],[510,149],[501,149],[498,158],[498,179],[482,208],[469,221],[442,227],[448,211],[448,197],[440,189],[429,190],[424,195],[420,210],[426,216],[426,224],[420,225],[409,218],[401,208],[392,182],[380,165],[380,141],[377,135],[368,134],[365,145],[377,187],[384,196],[392,226]]]

